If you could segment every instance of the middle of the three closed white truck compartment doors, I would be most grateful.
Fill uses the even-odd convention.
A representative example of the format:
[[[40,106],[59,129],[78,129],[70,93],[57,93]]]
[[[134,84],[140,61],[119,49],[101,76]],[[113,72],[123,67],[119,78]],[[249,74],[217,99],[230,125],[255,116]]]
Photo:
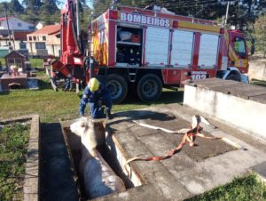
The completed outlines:
[[[172,38],[171,67],[190,68],[192,66],[192,48],[194,33],[175,30]]]

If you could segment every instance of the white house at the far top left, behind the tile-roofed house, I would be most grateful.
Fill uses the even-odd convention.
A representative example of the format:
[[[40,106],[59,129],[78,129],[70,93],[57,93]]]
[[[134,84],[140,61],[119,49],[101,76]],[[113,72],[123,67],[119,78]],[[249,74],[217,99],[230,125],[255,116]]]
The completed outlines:
[[[33,24],[27,23],[23,20],[17,19],[15,17],[8,17],[8,24],[10,30],[24,30],[24,31],[33,31],[35,26]],[[6,18],[0,18],[0,30],[7,30],[7,20]]]

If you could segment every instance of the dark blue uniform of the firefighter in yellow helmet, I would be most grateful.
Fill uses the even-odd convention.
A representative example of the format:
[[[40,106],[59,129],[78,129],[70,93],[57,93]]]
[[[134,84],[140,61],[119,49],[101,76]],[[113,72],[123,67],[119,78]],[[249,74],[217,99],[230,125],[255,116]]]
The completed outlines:
[[[96,92],[90,92],[88,86],[84,89],[82,100],[80,103],[79,113],[84,116],[84,111],[86,108],[86,104],[89,102],[90,104],[90,115],[92,118],[102,118],[104,117],[104,113],[102,110],[99,101],[102,101],[104,105],[106,105],[106,110],[111,111],[112,109],[112,100],[111,95],[106,86],[100,84],[99,89]]]

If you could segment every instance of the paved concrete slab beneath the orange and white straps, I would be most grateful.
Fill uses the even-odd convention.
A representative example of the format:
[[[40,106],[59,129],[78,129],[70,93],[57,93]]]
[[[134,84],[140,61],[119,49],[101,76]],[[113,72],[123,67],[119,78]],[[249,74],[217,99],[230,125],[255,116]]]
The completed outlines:
[[[195,111],[192,109],[170,104],[115,114],[115,118],[107,124],[107,128],[110,133],[113,133],[113,138],[119,141],[128,158],[164,156],[169,149],[173,149],[178,144],[182,136],[140,128],[139,125],[134,125],[132,120],[175,129],[187,127],[194,114]],[[161,121],[160,117],[162,117]],[[228,125],[219,125],[221,129],[203,126],[205,133],[226,137],[245,147],[246,150],[232,149],[223,141],[197,139],[199,146],[191,148],[185,145],[181,152],[166,160],[132,162],[131,167],[134,167],[146,181],[146,184],[138,189],[149,189],[147,186],[152,185],[153,188],[160,189],[157,197],[159,200],[183,200],[230,182],[234,177],[245,174],[253,165],[261,163],[266,157],[264,149],[258,149],[254,144],[250,145],[234,137],[234,129],[222,130],[223,127],[228,128]],[[155,191],[153,188],[149,190]],[[130,192],[134,190],[130,189]],[[129,196],[127,192],[124,195]],[[114,200],[117,197],[119,196],[110,195],[108,199],[102,197],[98,200]],[[132,200],[143,200],[144,197],[139,194]],[[121,200],[129,200],[129,197],[125,196]]]

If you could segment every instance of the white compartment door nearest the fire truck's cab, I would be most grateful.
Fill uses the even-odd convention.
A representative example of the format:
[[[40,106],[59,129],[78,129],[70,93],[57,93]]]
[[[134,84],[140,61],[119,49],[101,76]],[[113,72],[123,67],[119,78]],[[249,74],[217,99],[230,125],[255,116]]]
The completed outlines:
[[[215,68],[217,63],[219,36],[201,34],[198,68]]]

